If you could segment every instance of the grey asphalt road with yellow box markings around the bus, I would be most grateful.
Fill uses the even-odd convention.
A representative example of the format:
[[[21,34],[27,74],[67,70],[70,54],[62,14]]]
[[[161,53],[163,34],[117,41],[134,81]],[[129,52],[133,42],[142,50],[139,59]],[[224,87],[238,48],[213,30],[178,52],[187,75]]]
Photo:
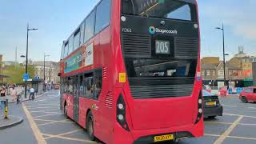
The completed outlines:
[[[205,136],[182,140],[178,144],[256,143],[256,103],[242,103],[235,95],[220,100],[224,107],[224,115],[216,119],[205,119]],[[24,122],[0,130],[1,143],[97,143],[88,140],[85,130],[65,118],[59,110],[56,90],[34,101],[23,102],[22,105],[12,104],[10,109],[10,114],[22,116]]]

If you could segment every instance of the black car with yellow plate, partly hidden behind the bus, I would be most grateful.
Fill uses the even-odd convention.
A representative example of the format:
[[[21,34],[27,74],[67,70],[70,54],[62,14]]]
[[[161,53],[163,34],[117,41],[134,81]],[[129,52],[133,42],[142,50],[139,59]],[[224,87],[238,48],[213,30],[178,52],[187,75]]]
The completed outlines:
[[[223,107],[218,100],[218,95],[202,90],[203,114],[205,118],[222,116]]]

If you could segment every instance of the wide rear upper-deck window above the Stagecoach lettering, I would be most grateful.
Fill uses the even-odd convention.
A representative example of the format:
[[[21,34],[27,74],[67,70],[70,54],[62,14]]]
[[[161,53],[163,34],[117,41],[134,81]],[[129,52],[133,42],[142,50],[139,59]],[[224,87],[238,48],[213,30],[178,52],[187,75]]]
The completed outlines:
[[[122,14],[196,22],[194,4],[178,0],[122,0]]]

